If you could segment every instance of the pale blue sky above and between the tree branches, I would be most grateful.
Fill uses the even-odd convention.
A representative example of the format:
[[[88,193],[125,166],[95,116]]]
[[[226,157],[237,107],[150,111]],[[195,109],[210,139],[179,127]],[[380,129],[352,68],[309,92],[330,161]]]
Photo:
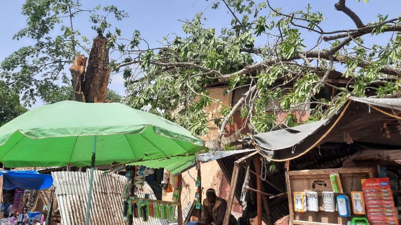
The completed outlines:
[[[338,0],[271,0],[274,7],[282,7],[283,12],[304,8],[308,3],[313,10],[319,10],[327,18],[323,21],[322,27],[327,30],[355,28],[352,20],[344,13],[336,11],[334,4]],[[128,12],[129,17],[123,21],[114,23],[122,30],[122,35],[131,36],[134,29],[141,31],[142,37],[146,39],[151,46],[159,46],[158,40],[168,33],[175,32],[183,34],[181,31],[182,22],[180,20],[191,19],[196,12],[205,11],[208,18],[207,23],[220,29],[231,22],[231,16],[223,5],[218,10],[210,9],[211,0],[82,0],[82,4],[92,7],[95,4],[115,4],[120,9]],[[8,0],[2,2],[0,8],[0,60],[8,56],[21,46],[32,43],[29,39],[13,40],[12,36],[25,25],[25,17],[21,15],[21,6],[24,0]],[[377,13],[388,14],[388,17],[396,17],[401,12],[401,0],[370,0],[368,3],[357,2],[357,0],[347,0],[347,5],[353,9],[364,23],[375,21]],[[89,38],[96,36],[96,33],[90,29],[89,22],[83,21],[74,24]],[[316,41],[316,35],[310,32],[303,32],[303,38],[308,45]],[[383,36],[369,38],[367,45],[383,41]],[[258,40],[259,44],[265,43],[264,40]],[[123,79],[121,75],[112,75],[112,82],[109,88],[125,95]],[[40,105],[38,102],[36,105]]]

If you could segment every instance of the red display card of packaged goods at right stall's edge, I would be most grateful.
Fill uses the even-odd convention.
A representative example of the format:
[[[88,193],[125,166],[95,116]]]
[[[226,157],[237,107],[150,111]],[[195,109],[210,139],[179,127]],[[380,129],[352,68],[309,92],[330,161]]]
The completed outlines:
[[[399,225],[387,177],[362,179],[362,191],[370,225]]]

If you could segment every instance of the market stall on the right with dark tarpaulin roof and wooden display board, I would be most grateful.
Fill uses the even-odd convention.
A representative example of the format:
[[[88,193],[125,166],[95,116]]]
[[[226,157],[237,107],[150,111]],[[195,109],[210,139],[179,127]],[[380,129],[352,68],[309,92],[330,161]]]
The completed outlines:
[[[399,98],[350,98],[328,119],[250,138],[284,171],[290,224],[399,224],[400,119]]]

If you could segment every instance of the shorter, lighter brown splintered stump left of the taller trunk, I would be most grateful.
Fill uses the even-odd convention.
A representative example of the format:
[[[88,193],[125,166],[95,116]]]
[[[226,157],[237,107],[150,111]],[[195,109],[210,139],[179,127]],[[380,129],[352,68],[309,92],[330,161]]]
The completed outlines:
[[[85,102],[85,96],[82,92],[82,86],[84,83],[86,59],[87,58],[83,54],[78,54],[75,57],[74,64],[70,67],[72,87],[74,90],[72,99],[74,101]]]

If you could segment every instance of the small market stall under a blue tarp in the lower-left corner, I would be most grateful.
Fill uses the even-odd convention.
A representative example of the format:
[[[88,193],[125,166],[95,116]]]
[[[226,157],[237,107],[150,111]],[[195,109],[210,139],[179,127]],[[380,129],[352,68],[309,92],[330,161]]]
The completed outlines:
[[[40,174],[35,170],[2,170],[0,172],[0,183],[3,190],[14,190],[13,196],[3,197],[1,223],[2,224],[43,224],[45,217],[42,212],[30,211],[29,200],[24,194],[24,190],[42,190],[53,186],[53,178],[51,175]],[[11,195],[11,194],[10,194]],[[6,200],[7,199],[7,200]],[[12,205],[12,206],[11,206]],[[13,210],[9,210],[12,207]],[[5,212],[7,216],[5,216]]]

